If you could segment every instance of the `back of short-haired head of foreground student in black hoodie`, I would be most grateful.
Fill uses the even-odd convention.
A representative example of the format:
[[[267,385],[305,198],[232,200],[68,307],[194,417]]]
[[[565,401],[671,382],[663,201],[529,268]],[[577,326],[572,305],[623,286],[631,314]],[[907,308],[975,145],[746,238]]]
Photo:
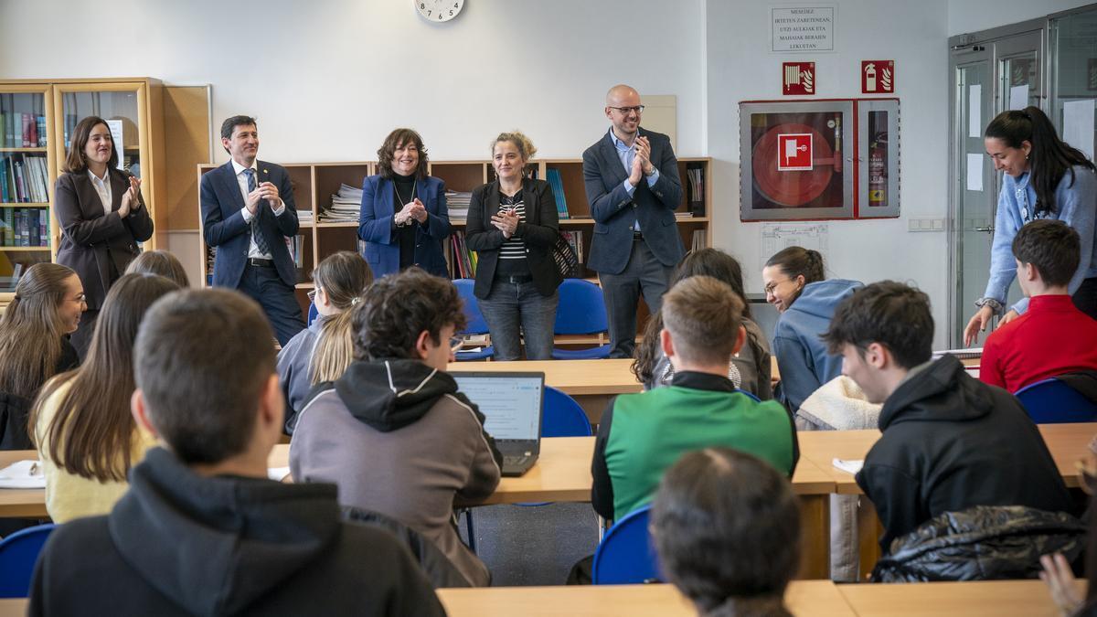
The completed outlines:
[[[157,302],[137,335],[137,388],[149,420],[186,464],[214,464],[251,441],[274,373],[270,324],[251,299],[184,290]]]

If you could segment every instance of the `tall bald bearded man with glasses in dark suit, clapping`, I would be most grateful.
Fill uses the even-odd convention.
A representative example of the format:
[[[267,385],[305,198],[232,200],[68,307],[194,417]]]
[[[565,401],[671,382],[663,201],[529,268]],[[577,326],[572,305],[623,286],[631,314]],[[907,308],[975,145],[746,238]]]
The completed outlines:
[[[612,126],[583,153],[583,178],[595,218],[587,265],[598,272],[610,322],[612,358],[636,347],[636,304],[659,311],[670,269],[682,258],[675,223],[681,202],[678,160],[670,138],[640,127],[644,105],[629,86],[610,88]]]

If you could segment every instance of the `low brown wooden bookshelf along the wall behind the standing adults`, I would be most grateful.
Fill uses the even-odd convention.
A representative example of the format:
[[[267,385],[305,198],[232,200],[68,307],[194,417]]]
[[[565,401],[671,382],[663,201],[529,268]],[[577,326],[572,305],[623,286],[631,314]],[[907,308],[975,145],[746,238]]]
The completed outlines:
[[[678,215],[678,232],[681,235],[686,250],[691,247],[712,246],[711,234],[711,159],[687,157],[678,159],[678,173],[682,179],[682,201],[676,213]],[[217,165],[199,165],[199,180]],[[295,255],[297,268],[297,301],[303,310],[308,308],[307,291],[313,289],[312,272],[316,265],[328,255],[338,250],[360,250],[358,240],[358,217],[353,221],[327,220],[331,206],[331,197],[339,192],[342,184],[360,189],[362,180],[375,173],[376,162],[314,162],[284,164],[293,182],[293,194],[297,203],[301,218],[302,250]],[[453,192],[468,193],[476,187],[495,178],[495,170],[488,160],[441,160],[430,162],[430,175],[445,182],[445,189],[451,193],[450,222],[454,234],[463,236],[465,220],[454,216]],[[577,232],[579,251],[584,257],[590,253],[590,239],[593,236],[595,221],[590,217],[590,206],[587,203],[586,190],[583,186],[583,160],[580,159],[547,159],[531,162],[528,173],[546,179],[548,171],[559,173],[568,217],[561,218],[562,232]],[[689,173],[694,176],[689,180]],[[460,203],[460,198],[456,200]],[[201,220],[201,204],[197,204]],[[210,285],[213,272],[213,250],[206,246],[205,238],[199,234],[201,243],[202,282]],[[446,261],[450,263],[451,277],[454,276],[454,248],[451,242],[444,243]],[[593,278],[596,273],[580,263],[580,277]],[[647,310],[641,308],[638,323],[643,326]],[[568,341],[573,343],[573,341]],[[575,340],[574,343],[593,343]]]

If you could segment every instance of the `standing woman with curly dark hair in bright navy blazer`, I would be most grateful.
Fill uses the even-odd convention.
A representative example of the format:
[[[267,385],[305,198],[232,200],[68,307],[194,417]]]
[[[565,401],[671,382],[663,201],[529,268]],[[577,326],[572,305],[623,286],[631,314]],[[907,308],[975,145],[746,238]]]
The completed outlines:
[[[442,255],[450,235],[445,182],[427,175],[427,162],[422,137],[397,128],[377,150],[380,173],[362,183],[358,237],[377,278],[411,266],[449,278]]]

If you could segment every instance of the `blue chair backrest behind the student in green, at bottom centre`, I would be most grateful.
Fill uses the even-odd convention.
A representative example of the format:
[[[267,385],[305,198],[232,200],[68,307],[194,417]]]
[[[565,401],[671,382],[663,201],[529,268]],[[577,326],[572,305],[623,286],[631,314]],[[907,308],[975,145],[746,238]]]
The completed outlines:
[[[595,551],[591,577],[596,585],[627,585],[659,581],[659,561],[647,530],[652,506],[618,520]]]

